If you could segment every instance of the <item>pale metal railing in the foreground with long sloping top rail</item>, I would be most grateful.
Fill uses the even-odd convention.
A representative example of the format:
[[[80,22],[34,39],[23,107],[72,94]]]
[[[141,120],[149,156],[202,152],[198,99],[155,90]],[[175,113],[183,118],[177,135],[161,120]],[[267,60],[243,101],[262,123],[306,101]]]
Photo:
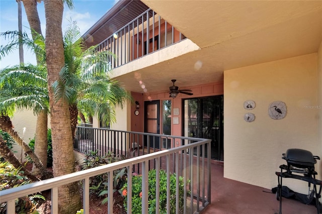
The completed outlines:
[[[179,182],[179,174],[184,177],[185,188],[184,195],[184,213],[199,213],[203,210],[211,200],[211,172],[210,172],[210,148],[209,139],[196,139],[170,136],[173,138],[181,138],[185,140],[198,140],[195,143],[179,146],[176,148],[157,151],[139,157],[134,157],[119,162],[107,164],[104,166],[78,171],[71,174],[54,177],[51,179],[26,184],[23,186],[6,189],[0,191],[0,203],[7,203],[7,213],[15,213],[15,199],[29,194],[34,194],[44,190],[51,190],[51,213],[58,213],[58,187],[64,184],[83,181],[83,208],[84,213],[89,213],[89,184],[90,177],[99,174],[108,173],[108,213],[113,213],[113,172],[124,167],[127,168],[127,192],[132,194],[132,166],[141,164],[142,180],[147,181],[148,170],[151,161],[154,162],[156,171],[165,168],[167,174],[174,171],[177,176],[177,186]],[[208,158],[206,158],[206,156]],[[161,160],[165,160],[166,164],[160,164]],[[174,167],[171,162],[174,161]],[[180,166],[181,165],[181,166]],[[181,169],[180,169],[181,168]],[[111,181],[111,182],[110,182]],[[190,181],[190,182],[189,182]],[[158,173],[156,174],[156,182],[159,182]],[[190,191],[190,194],[188,194]],[[156,196],[158,197],[159,187],[156,188]],[[177,191],[176,194],[179,194]],[[167,177],[167,195],[170,195],[170,177]],[[167,197],[167,213],[170,213],[170,197]],[[176,195],[176,210],[179,212],[179,195]],[[132,201],[128,200],[127,213],[131,213]],[[159,201],[156,201],[156,207],[159,207]],[[156,209],[158,213],[158,209]],[[148,182],[142,182],[142,213],[148,213]]]

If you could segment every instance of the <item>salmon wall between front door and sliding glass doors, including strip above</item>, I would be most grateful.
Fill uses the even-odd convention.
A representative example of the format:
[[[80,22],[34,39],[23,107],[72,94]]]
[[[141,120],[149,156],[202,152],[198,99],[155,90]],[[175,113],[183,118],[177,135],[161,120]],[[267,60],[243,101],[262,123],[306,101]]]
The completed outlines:
[[[144,101],[147,100],[167,100],[172,99],[172,113],[174,108],[179,108],[179,115],[173,117],[179,117],[179,124],[173,124],[172,121],[172,135],[174,136],[182,136],[182,99],[183,98],[194,98],[194,97],[203,97],[203,96],[215,96],[215,95],[222,95],[223,94],[223,82],[214,82],[209,84],[203,85],[194,85],[194,86],[185,86],[180,87],[180,89],[191,89],[193,95],[189,96],[186,94],[179,93],[176,98],[169,97],[169,92],[159,92],[159,93],[147,93],[144,94]],[[160,106],[161,109],[161,106]],[[162,112],[160,111],[160,118],[162,118]],[[176,139],[179,141],[179,139]],[[180,146],[177,145],[176,146]]]

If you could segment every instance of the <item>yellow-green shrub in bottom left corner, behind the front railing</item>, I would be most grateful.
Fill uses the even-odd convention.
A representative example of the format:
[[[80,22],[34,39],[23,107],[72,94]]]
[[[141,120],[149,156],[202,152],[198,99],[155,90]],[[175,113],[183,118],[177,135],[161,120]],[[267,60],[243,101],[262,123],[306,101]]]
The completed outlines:
[[[0,191],[31,182],[28,177],[24,176],[24,171],[21,171],[21,169],[16,169],[8,162],[0,162]],[[44,196],[39,194],[16,199],[16,213],[38,213],[36,206],[38,205],[39,199],[45,200]],[[0,213],[6,213],[6,203],[0,205]]]

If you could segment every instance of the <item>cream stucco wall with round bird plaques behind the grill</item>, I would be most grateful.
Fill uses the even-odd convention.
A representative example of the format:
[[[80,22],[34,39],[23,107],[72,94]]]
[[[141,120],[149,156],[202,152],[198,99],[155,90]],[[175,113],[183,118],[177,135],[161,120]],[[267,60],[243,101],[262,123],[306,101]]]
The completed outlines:
[[[224,177],[272,188],[287,149],[322,156],[318,109],[305,107],[318,104],[316,78],[316,53],[224,71]],[[244,109],[249,99],[256,102],[253,110]],[[282,120],[268,116],[269,104],[277,100],[287,105]],[[248,112],[256,116],[252,123],[244,121]],[[303,181],[284,179],[283,185],[307,191]]]

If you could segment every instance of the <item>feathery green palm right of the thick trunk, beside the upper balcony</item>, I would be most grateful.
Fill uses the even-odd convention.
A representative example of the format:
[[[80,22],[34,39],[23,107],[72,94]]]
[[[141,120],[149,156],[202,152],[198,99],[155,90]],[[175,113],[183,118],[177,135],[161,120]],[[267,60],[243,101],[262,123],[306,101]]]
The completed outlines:
[[[106,124],[115,122],[115,106],[132,100],[130,93],[109,77],[109,61],[114,55],[109,51],[95,53],[95,47],[86,49],[85,42],[72,22],[64,34],[65,66],[60,79],[53,84],[55,100],[69,103],[72,136],[77,126],[78,112],[86,112],[103,119]]]

